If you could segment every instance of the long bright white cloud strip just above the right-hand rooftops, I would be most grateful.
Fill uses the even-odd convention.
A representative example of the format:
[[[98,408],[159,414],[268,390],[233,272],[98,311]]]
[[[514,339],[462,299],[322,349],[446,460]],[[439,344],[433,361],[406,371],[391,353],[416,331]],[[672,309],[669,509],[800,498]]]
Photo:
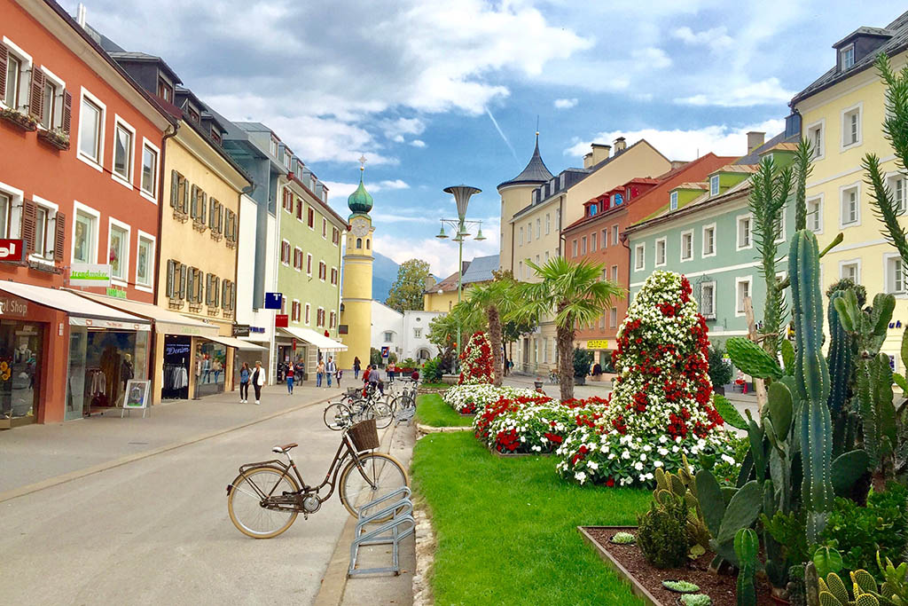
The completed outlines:
[[[696,129],[659,130],[646,128],[639,131],[610,131],[599,133],[592,141],[612,141],[619,136],[627,138],[628,146],[640,139],[646,139],[671,160],[694,160],[700,155],[713,152],[717,155],[744,155],[747,151],[748,131],[761,131],[766,137],[775,136],[785,128],[784,120],[767,120],[759,124],[731,127],[726,124],[705,126]],[[589,151],[590,141],[580,141],[565,150],[565,155],[583,156]]]

